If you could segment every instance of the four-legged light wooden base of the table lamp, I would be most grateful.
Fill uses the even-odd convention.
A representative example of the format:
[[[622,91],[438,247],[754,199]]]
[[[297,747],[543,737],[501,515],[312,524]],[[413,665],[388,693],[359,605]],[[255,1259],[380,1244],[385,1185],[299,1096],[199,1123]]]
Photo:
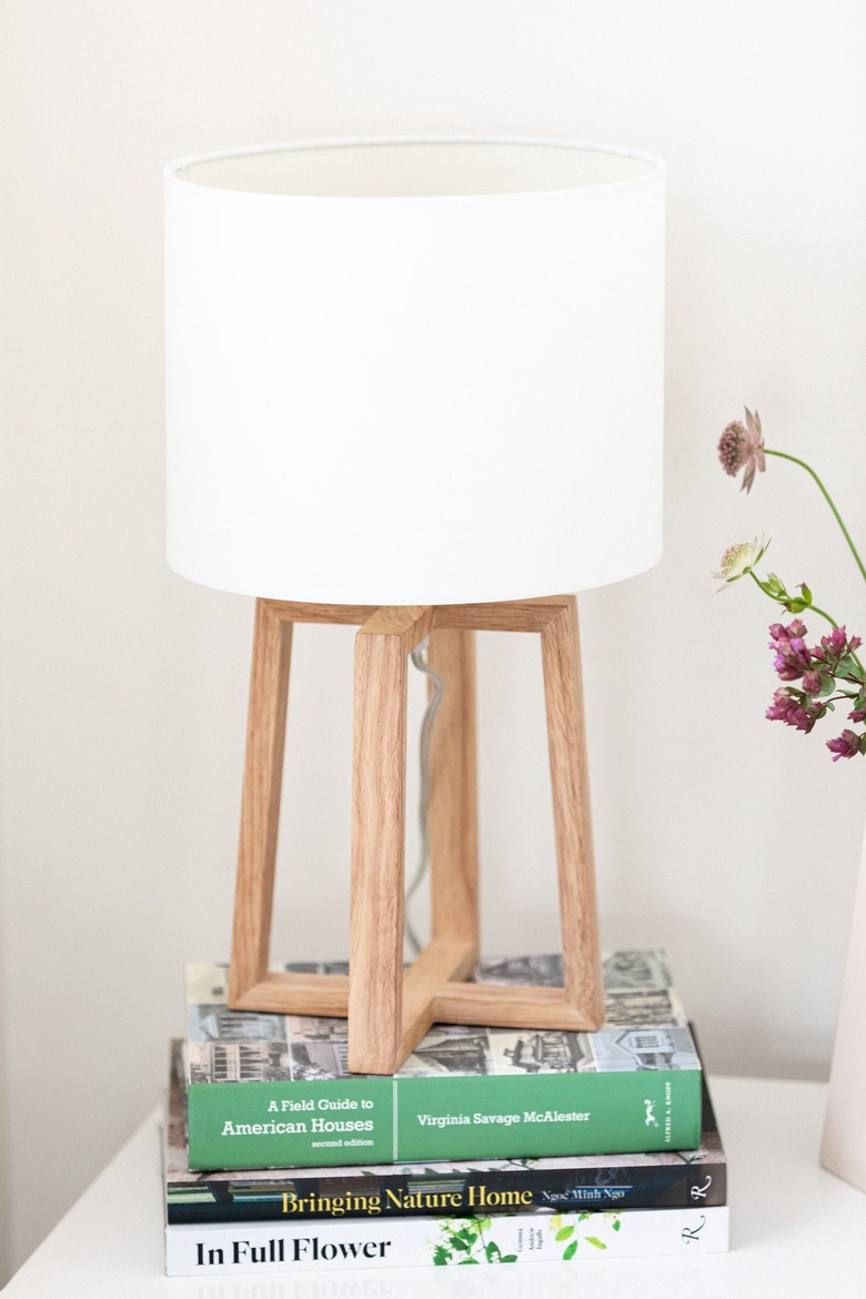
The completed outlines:
[[[349,977],[269,973],[292,627],[360,625],[354,650]],[[474,631],[541,637],[563,986],[462,982],[478,959]],[[408,656],[445,682],[430,786],[431,940],[404,970]],[[601,960],[574,596],[427,608],[258,600],[229,1005],[348,1017],[353,1073],[393,1073],[436,1022],[597,1029]]]

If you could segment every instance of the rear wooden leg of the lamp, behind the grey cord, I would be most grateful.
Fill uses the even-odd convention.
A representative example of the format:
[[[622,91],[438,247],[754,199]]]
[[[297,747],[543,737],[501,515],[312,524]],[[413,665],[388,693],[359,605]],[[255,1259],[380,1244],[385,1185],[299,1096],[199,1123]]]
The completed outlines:
[[[434,942],[470,943],[469,960],[474,964],[478,960],[474,631],[434,630],[428,662],[445,683],[430,764],[431,935]]]

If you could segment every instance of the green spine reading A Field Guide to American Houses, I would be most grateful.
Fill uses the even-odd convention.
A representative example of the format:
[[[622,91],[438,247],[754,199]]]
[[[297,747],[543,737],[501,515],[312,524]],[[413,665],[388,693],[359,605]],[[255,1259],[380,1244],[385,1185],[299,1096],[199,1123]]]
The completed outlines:
[[[700,1069],[190,1085],[190,1167],[688,1150]]]

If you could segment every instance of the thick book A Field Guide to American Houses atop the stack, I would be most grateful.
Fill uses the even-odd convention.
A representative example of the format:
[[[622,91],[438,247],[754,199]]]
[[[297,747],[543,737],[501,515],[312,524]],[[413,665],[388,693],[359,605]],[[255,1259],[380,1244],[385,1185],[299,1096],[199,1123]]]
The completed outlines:
[[[701,1068],[663,953],[615,952],[604,974],[596,1033],[434,1025],[384,1078],[348,1073],[345,1020],[229,1011],[227,968],[191,966],[190,1167],[696,1148]],[[475,978],[560,986],[561,959],[484,960]]]

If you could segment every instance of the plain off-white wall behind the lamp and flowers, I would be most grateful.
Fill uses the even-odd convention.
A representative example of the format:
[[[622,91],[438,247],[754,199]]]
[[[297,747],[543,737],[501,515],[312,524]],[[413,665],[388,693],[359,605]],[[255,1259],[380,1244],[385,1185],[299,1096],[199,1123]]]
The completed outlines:
[[[666,557],[583,601],[604,937],[667,947],[711,1069],[824,1076],[863,768],[763,721],[773,611],[709,573],[765,531],[791,583],[866,629],[814,488],[774,462],[745,499],[714,451],[757,404],[866,538],[863,6],[6,0],[3,23],[8,1263],[160,1099],[184,961],[227,955],[252,607],[162,559],[179,155],[489,131],[667,158]],[[557,942],[517,640],[482,643],[488,952]],[[299,637],[275,955],[344,951],[349,662],[351,634]]]

